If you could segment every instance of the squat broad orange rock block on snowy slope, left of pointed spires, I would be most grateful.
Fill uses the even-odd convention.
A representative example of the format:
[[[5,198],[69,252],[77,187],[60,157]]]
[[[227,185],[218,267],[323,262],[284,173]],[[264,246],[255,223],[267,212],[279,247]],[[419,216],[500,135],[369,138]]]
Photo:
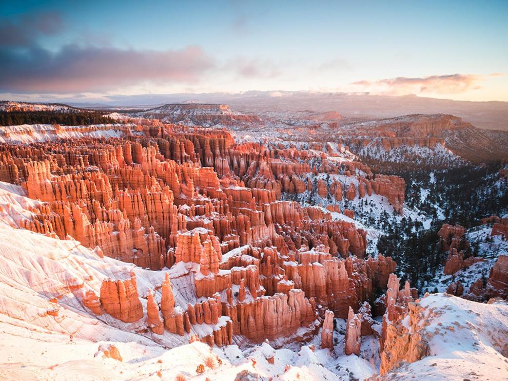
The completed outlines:
[[[141,319],[143,306],[138,296],[135,275],[123,280],[103,280],[101,304],[106,313],[126,323]]]

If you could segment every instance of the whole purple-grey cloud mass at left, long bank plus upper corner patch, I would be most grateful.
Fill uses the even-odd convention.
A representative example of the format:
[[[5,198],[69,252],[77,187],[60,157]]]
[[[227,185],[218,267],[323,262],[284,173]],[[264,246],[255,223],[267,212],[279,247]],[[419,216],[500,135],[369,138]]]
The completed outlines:
[[[196,83],[215,67],[199,46],[135,50],[74,43],[53,51],[40,45],[44,37],[63,32],[57,12],[0,19],[0,91],[65,93]]]

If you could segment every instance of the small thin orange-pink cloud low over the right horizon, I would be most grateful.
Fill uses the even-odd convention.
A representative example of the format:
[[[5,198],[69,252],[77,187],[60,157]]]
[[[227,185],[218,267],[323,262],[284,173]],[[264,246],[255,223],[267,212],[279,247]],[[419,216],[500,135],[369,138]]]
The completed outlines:
[[[431,75],[429,77],[397,77],[379,81],[357,81],[351,85],[374,93],[392,95],[405,94],[457,94],[480,88],[484,75],[477,74],[447,74]]]

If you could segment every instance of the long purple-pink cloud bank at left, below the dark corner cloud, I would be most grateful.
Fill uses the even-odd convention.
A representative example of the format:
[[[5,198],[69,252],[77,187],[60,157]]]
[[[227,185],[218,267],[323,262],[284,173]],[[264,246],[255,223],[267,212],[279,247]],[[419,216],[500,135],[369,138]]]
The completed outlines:
[[[198,46],[156,51],[67,45],[56,53],[39,47],[1,49],[0,89],[83,92],[143,82],[195,83],[214,65]]]

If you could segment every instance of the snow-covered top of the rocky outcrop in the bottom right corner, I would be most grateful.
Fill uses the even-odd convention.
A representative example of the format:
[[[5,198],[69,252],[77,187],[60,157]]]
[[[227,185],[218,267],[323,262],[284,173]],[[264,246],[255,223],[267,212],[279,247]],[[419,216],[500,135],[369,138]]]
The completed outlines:
[[[427,355],[393,369],[385,379],[508,379],[508,303],[432,294],[419,305],[424,318],[418,329]],[[408,317],[400,322],[408,323]],[[415,334],[411,327],[408,334]]]

